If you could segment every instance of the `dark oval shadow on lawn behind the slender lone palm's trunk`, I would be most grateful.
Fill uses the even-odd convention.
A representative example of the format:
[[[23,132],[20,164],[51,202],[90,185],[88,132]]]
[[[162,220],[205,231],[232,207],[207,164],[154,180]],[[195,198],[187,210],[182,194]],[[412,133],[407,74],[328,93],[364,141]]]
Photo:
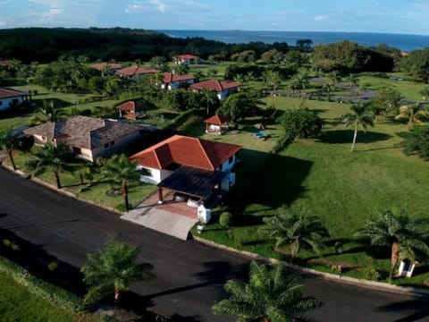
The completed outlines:
[[[340,144],[350,143],[353,140],[353,130],[324,131],[320,140],[324,143]],[[389,140],[391,135],[374,131],[357,131],[357,143],[372,143],[375,141]]]

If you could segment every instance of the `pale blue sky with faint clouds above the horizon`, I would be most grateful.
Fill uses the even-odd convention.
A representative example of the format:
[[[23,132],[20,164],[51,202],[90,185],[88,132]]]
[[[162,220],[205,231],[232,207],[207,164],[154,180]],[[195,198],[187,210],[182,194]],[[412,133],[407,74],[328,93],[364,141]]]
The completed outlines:
[[[428,0],[0,0],[0,28],[359,31],[429,35]]]

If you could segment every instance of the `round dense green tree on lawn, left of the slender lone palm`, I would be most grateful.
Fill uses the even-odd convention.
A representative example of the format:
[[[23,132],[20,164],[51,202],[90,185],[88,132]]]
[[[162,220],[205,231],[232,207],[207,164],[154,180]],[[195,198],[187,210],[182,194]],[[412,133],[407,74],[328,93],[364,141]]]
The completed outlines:
[[[285,111],[279,118],[290,140],[317,136],[324,125],[323,120],[307,107]]]

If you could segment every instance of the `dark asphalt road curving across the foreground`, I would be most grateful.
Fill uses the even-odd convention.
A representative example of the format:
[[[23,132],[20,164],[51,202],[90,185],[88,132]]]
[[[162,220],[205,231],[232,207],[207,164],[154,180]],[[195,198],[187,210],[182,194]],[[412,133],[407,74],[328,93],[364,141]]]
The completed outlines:
[[[117,237],[140,246],[139,260],[155,267],[156,280],[136,284],[157,310],[196,321],[229,321],[209,307],[222,298],[225,279],[246,269],[248,260],[198,242],[182,242],[119,219],[104,209],[26,181],[0,168],[0,227],[43,245],[60,260],[80,267],[86,254]],[[306,292],[324,301],[317,321],[429,321],[427,301],[372,292],[308,278]]]

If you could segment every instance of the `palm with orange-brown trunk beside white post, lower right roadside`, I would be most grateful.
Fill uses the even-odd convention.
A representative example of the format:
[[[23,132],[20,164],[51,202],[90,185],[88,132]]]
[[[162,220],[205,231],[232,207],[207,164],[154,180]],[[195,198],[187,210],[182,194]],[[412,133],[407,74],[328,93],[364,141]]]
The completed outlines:
[[[378,218],[368,219],[358,232],[374,246],[391,247],[391,272],[398,264],[400,255],[404,258],[416,258],[416,252],[429,255],[429,219],[410,218],[401,210],[396,214],[390,210],[378,213]]]

